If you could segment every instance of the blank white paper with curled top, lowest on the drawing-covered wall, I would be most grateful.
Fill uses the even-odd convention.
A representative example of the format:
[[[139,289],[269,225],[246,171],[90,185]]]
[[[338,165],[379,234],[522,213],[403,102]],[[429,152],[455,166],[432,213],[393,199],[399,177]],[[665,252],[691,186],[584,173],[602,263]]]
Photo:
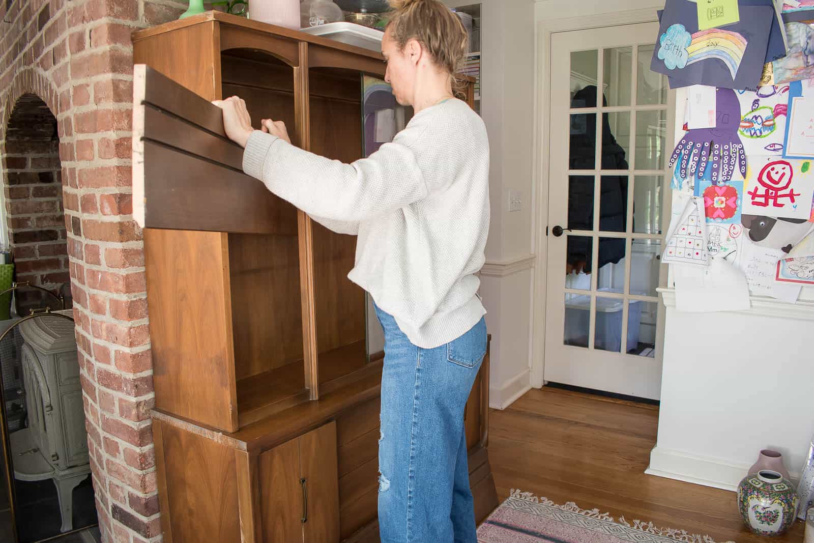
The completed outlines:
[[[707,268],[673,266],[676,309],[684,313],[743,311],[751,307],[743,272],[722,258],[710,259]]]

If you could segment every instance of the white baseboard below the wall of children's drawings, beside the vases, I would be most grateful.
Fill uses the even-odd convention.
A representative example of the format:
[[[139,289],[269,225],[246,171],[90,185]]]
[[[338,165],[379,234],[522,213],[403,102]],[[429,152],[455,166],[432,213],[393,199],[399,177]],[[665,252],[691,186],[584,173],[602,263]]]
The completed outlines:
[[[699,457],[656,445],[650,451],[650,466],[645,473],[735,492],[750,467],[751,463],[733,464],[720,458]],[[799,473],[790,475],[792,482],[797,484]]]

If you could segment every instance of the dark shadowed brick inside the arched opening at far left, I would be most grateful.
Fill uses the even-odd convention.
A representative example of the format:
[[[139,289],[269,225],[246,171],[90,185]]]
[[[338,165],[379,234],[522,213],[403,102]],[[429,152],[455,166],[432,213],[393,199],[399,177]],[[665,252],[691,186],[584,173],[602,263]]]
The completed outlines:
[[[36,94],[15,103],[6,136],[6,221],[17,282],[59,293],[70,283],[68,232],[62,207],[62,172],[56,118]],[[40,307],[40,291],[18,291],[17,309]],[[59,309],[58,304],[53,305]]]

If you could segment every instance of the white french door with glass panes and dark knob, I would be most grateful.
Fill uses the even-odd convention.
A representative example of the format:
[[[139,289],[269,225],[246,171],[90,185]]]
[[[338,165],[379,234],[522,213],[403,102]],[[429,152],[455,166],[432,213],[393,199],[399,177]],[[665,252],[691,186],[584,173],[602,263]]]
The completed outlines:
[[[658,399],[672,93],[656,23],[552,34],[544,379]],[[563,128],[568,133],[562,134]]]

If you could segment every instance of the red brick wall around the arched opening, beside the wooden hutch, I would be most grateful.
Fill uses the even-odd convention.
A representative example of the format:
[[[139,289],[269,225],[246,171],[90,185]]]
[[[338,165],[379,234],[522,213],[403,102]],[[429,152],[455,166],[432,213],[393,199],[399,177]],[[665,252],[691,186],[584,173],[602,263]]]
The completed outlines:
[[[14,149],[8,127],[20,97],[36,95],[57,120],[73,314],[104,541],[161,540],[142,233],[131,216],[129,35],[176,19],[184,9],[186,2],[168,0],[0,2],[0,19],[11,21],[0,23],[4,190],[16,179],[14,161],[7,163]],[[33,201],[33,185],[28,188]]]

